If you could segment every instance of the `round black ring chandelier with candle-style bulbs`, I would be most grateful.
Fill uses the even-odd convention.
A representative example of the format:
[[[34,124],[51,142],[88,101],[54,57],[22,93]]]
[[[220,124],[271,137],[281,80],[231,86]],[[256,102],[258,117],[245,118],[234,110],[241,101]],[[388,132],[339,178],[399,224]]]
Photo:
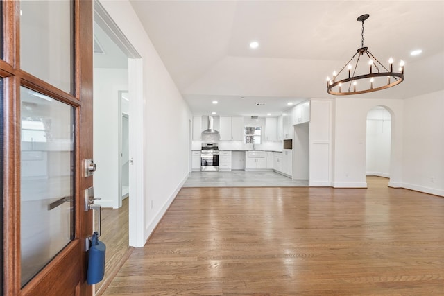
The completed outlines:
[[[361,48],[342,67],[339,73],[333,72],[333,78],[327,77],[327,92],[333,95],[364,94],[376,92],[400,84],[404,80],[404,62],[400,61],[397,72],[393,71],[393,58],[388,60],[388,70],[377,58],[375,58],[368,47],[364,46],[364,21],[370,15],[361,15],[357,21],[362,22]],[[368,62],[363,62],[368,58]],[[361,63],[359,63],[361,62]],[[343,70],[347,68],[348,73]],[[342,73],[342,76],[340,76]],[[364,73],[364,74],[359,74]]]

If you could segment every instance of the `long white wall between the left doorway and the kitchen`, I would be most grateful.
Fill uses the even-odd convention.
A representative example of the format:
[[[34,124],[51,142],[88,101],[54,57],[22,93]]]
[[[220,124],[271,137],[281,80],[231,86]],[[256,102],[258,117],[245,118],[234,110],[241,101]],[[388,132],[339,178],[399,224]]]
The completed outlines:
[[[188,176],[191,112],[129,1],[100,2],[143,61],[144,138],[140,145],[144,155],[146,241]]]

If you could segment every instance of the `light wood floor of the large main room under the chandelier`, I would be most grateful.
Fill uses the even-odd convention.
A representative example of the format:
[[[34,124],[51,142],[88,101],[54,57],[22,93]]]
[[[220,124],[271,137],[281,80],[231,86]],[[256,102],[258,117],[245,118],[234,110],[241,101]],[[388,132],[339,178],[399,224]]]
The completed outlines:
[[[444,295],[444,198],[183,188],[104,295]]]

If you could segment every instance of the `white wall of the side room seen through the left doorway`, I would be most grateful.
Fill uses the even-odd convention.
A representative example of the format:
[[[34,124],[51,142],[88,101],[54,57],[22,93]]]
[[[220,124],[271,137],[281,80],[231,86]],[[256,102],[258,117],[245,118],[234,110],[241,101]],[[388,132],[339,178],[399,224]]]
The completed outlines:
[[[102,207],[119,207],[119,91],[128,89],[128,69],[94,68],[94,196]]]

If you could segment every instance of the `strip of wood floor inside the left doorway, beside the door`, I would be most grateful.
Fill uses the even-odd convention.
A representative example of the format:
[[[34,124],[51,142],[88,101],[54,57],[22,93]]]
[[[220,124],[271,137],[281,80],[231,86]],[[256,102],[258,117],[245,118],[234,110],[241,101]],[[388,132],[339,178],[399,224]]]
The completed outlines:
[[[122,200],[119,209],[102,209],[102,234],[99,239],[106,245],[105,277],[96,284],[96,295],[103,293],[103,288],[116,275],[133,249],[128,245],[128,200]]]

